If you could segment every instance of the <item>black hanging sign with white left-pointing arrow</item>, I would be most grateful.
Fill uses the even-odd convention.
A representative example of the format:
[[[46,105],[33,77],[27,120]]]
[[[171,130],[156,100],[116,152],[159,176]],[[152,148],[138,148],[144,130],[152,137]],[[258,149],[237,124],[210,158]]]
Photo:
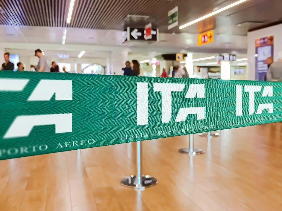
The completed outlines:
[[[135,28],[135,27],[127,27],[126,30],[123,32],[123,42],[126,41],[158,41],[158,29],[152,29],[152,39],[145,39],[145,29],[144,28]]]

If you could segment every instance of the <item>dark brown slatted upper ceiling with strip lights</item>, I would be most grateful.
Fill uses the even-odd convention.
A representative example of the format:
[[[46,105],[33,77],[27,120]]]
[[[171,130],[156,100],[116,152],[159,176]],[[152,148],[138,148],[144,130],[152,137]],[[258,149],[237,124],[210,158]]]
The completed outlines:
[[[200,33],[210,27],[217,34],[246,35],[251,28],[281,20],[281,0],[249,0],[217,16],[179,30],[167,29],[167,12],[179,7],[179,25],[236,0],[75,0],[70,24],[70,0],[0,0],[0,25],[76,27],[123,30],[128,15],[149,16],[148,21],[165,33]],[[240,27],[237,24],[242,23]],[[130,24],[143,22],[130,20]]]

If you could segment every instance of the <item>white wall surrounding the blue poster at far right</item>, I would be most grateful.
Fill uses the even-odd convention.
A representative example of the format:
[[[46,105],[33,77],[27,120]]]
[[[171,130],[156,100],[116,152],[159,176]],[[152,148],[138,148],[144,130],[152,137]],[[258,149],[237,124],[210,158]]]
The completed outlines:
[[[282,51],[282,24],[263,28],[248,33],[248,80],[255,80],[255,40],[267,36],[274,36],[274,61],[278,52]]]

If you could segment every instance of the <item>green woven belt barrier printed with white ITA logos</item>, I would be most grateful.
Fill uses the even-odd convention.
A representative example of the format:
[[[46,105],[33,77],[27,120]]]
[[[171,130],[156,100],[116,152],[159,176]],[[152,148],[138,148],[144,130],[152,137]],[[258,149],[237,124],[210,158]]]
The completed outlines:
[[[0,117],[4,160],[282,121],[282,84],[2,71]]]

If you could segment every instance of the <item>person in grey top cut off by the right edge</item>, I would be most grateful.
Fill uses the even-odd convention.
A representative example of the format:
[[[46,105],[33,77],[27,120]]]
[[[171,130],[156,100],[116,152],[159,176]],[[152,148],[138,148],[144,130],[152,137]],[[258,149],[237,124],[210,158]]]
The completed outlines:
[[[282,81],[282,52],[278,53],[278,61],[273,62],[266,74],[267,81]]]

